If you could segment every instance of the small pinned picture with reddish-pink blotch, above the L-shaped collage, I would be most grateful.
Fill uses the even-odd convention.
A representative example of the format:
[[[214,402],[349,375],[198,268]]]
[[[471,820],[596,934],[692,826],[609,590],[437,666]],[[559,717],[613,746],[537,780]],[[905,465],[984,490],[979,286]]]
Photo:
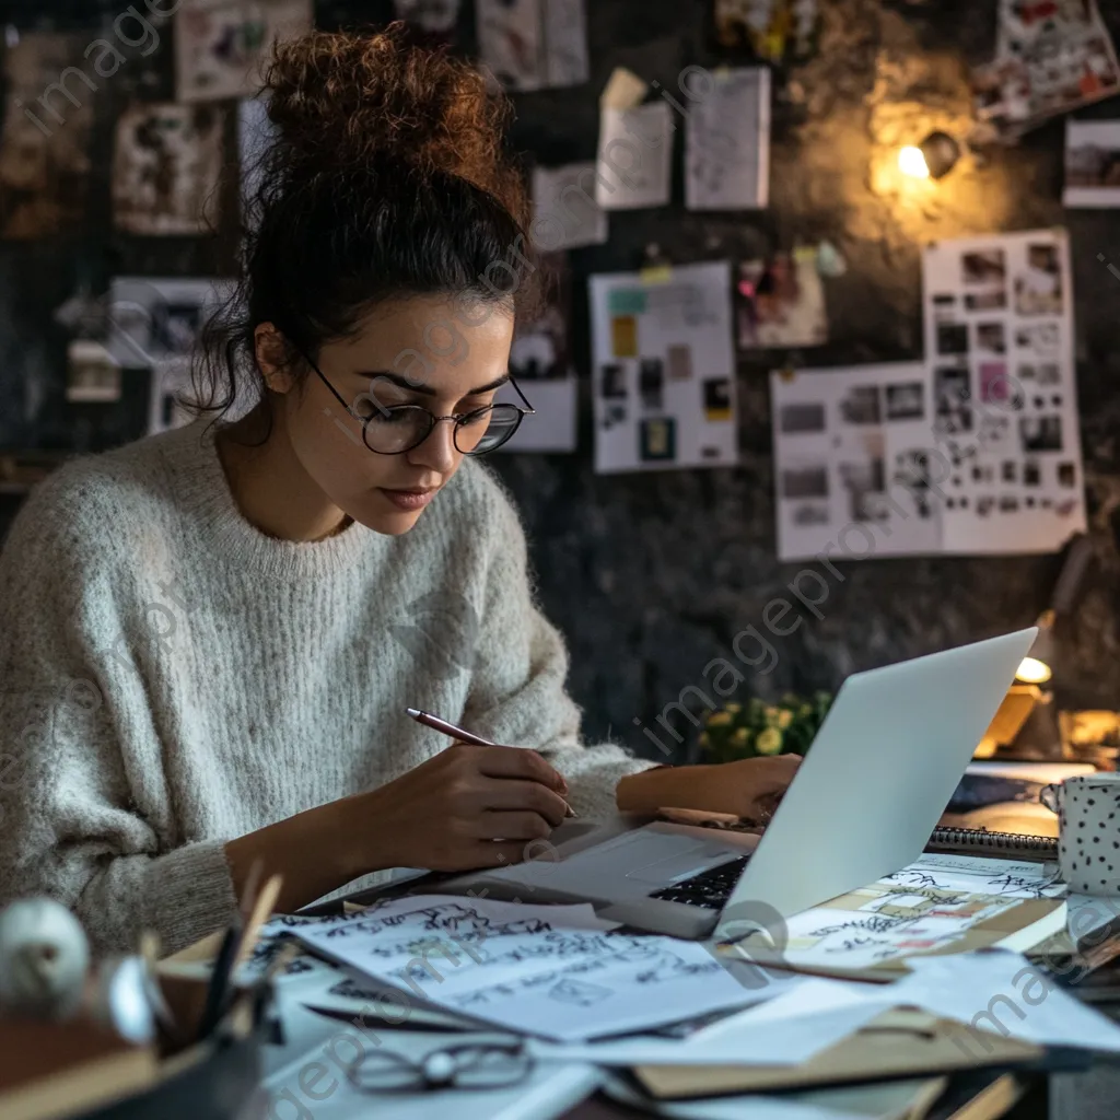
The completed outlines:
[[[741,261],[738,334],[743,349],[820,346],[828,342],[824,284],[812,246]]]

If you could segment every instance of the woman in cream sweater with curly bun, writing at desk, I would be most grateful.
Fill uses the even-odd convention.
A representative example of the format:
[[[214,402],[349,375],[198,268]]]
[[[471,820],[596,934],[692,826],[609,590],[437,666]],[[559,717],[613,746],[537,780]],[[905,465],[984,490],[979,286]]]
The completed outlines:
[[[218,422],[67,465],[0,559],[0,902],[53,895],[102,951],[205,935],[258,862],[290,911],[520,860],[569,804],[748,814],[792,774],[579,743],[517,517],[472,461],[520,420],[493,402],[535,274],[482,77],[392,29],[288,43],[267,86],[200,367]]]

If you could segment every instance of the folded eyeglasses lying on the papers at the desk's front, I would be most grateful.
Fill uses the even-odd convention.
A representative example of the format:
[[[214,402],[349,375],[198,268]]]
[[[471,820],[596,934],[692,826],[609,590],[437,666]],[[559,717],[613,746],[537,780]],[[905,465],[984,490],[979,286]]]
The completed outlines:
[[[533,1060],[520,1042],[469,1043],[411,1058],[370,1051],[346,1068],[355,1089],[367,1093],[417,1089],[505,1089],[523,1081]]]

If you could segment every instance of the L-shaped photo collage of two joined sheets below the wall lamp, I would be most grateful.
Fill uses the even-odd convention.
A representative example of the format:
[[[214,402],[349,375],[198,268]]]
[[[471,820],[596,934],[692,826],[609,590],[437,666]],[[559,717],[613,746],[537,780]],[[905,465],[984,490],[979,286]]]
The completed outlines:
[[[1065,234],[941,242],[923,283],[924,362],[771,374],[783,561],[1048,552],[1084,530]]]

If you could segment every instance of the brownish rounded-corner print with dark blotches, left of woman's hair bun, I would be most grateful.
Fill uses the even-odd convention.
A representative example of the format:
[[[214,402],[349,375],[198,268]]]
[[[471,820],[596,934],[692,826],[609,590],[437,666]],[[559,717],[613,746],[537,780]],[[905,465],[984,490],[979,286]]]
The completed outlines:
[[[116,122],[113,221],[127,233],[205,233],[217,221],[225,109],[137,103]]]

